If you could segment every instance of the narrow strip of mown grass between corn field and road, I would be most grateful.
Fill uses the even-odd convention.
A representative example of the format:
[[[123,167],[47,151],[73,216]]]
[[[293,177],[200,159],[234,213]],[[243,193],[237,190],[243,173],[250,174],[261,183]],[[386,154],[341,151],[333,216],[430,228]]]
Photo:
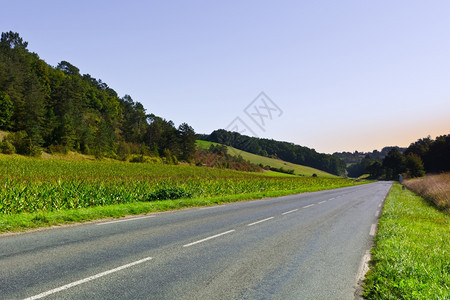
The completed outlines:
[[[335,188],[337,188],[336,186]],[[255,200],[269,197],[280,197],[305,192],[314,192],[332,187],[303,187],[287,191],[267,191],[239,195],[229,195],[211,198],[192,198],[177,200],[162,200],[152,202],[133,202],[107,206],[96,206],[80,209],[59,211],[41,211],[36,213],[19,213],[0,217],[0,233],[24,231],[40,227],[50,227],[63,224],[87,222],[98,219],[120,218],[138,214],[164,212],[190,207],[219,205],[224,203]]]

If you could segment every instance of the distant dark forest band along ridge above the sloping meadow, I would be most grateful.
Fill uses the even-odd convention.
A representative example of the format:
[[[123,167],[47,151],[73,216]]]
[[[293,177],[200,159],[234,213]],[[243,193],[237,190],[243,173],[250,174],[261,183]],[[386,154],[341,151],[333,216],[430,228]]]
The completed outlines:
[[[197,135],[199,139],[232,146],[253,154],[279,158],[287,162],[313,167],[335,175],[345,174],[345,163],[338,157],[317,153],[314,149],[288,142],[241,135],[223,129],[210,135]]]

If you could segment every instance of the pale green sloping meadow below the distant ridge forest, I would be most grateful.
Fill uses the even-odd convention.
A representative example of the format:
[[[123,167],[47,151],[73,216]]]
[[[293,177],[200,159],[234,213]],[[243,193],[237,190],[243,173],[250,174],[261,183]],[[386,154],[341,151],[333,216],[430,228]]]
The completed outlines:
[[[217,143],[197,140],[197,145],[202,148],[205,148],[205,149],[208,149],[211,144],[216,145]],[[251,163],[256,164],[256,165],[262,164],[263,166],[269,165],[274,168],[284,168],[287,170],[294,170],[294,174],[296,174],[296,175],[312,176],[313,174],[316,174],[317,176],[320,176],[320,177],[328,177],[328,178],[337,178],[338,177],[338,176],[332,175],[330,173],[327,173],[327,172],[324,172],[324,171],[321,171],[318,169],[314,169],[311,167],[285,162],[280,159],[274,159],[274,158],[270,158],[270,157],[264,157],[264,156],[252,154],[252,153],[245,152],[245,151],[242,151],[242,150],[230,147],[230,146],[227,146],[227,148],[228,148],[229,154],[241,155],[242,158],[244,158],[245,160],[248,160]]]

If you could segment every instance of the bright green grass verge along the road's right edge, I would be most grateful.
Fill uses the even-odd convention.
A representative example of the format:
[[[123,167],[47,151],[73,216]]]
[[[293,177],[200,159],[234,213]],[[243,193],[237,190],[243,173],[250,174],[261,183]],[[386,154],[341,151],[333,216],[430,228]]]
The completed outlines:
[[[394,184],[367,273],[367,299],[450,299],[450,217]]]

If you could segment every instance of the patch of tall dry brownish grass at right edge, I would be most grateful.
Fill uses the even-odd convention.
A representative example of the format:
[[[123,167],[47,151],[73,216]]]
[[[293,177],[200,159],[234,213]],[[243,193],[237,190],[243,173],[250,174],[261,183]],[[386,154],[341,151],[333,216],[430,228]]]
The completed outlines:
[[[427,175],[403,183],[421,197],[433,202],[439,209],[450,212],[450,173]]]

